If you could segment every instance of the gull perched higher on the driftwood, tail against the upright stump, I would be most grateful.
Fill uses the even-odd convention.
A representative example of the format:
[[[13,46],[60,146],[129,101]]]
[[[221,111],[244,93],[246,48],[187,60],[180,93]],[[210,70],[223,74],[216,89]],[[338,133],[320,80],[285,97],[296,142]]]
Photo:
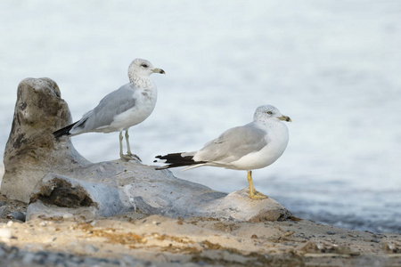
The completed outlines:
[[[107,94],[80,120],[55,131],[54,137],[119,132],[119,157],[126,161],[138,158],[131,153],[128,129],[142,123],[154,109],[158,92],[150,79],[152,73],[165,74],[163,69],[154,68],[151,62],[135,59],[128,67],[129,84]],[[123,131],[126,132],[127,154],[123,154]]]

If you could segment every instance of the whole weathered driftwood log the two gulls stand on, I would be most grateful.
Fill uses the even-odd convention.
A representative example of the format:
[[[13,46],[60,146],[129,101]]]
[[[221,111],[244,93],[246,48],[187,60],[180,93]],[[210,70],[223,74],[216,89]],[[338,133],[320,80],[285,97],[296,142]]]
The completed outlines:
[[[20,82],[1,193],[29,202],[28,220],[94,220],[135,212],[250,222],[291,216],[272,198],[251,200],[248,189],[218,192],[134,160],[91,163],[70,138],[54,139],[53,131],[70,122],[68,105],[51,79]]]

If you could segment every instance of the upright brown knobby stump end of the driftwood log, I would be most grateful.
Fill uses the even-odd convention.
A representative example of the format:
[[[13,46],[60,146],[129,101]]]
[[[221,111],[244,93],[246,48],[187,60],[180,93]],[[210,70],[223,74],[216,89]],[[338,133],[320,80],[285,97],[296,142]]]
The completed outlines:
[[[70,109],[53,80],[26,78],[20,82],[4,150],[4,196],[28,202],[30,192],[45,174],[89,163],[70,139],[57,142],[53,137],[53,131],[70,122]]]

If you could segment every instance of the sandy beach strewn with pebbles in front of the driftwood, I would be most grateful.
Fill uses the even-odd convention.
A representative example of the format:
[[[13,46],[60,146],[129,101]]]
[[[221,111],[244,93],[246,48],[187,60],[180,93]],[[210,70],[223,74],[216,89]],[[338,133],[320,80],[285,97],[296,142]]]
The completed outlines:
[[[0,266],[401,266],[401,235],[350,231],[299,218],[237,223],[123,214],[91,222],[9,214],[0,198]]]

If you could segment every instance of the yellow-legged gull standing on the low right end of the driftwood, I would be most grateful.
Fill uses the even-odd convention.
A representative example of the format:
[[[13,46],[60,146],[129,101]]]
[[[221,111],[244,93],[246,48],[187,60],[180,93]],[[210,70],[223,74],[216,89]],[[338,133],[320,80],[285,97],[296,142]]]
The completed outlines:
[[[154,162],[168,164],[157,169],[186,166],[184,170],[188,170],[200,166],[217,166],[246,170],[250,198],[268,198],[255,190],[252,170],[269,166],[282,156],[289,141],[287,125],[282,121],[291,122],[291,118],[282,115],[272,105],[260,106],[251,123],[228,129],[217,139],[206,143],[201,150],[156,156],[159,160]]]

